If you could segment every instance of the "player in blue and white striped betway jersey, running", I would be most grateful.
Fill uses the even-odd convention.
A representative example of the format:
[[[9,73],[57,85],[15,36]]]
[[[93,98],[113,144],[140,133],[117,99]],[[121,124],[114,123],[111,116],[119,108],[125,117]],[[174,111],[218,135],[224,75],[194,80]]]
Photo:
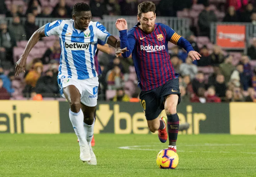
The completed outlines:
[[[26,59],[33,46],[45,36],[59,36],[61,56],[58,74],[60,93],[70,104],[69,118],[79,139],[80,159],[96,165],[91,148],[94,133],[94,112],[97,105],[98,77],[94,55],[98,39],[116,48],[116,54],[126,52],[120,41],[109,34],[99,22],[91,21],[90,6],[79,2],[74,5],[70,20],[57,20],[39,28],[30,38],[15,73],[25,72]]]

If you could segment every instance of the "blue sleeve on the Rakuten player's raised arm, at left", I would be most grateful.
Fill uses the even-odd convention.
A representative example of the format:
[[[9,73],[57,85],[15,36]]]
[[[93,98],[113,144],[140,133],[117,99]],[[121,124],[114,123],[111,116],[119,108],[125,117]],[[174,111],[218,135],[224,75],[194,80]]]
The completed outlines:
[[[134,46],[136,44],[135,36],[132,34],[132,30],[129,30],[127,34],[127,30],[119,31],[120,45],[121,48],[127,47],[126,52],[122,53],[124,58],[128,58],[133,52]]]

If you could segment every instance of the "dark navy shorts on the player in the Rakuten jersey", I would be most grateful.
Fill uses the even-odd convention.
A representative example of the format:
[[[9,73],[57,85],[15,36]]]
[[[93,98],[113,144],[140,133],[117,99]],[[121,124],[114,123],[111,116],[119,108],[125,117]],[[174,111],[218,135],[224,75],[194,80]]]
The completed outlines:
[[[164,85],[149,91],[141,91],[139,98],[144,109],[146,120],[154,120],[164,110],[165,98],[177,94],[178,104],[181,101],[178,78],[167,81]]]

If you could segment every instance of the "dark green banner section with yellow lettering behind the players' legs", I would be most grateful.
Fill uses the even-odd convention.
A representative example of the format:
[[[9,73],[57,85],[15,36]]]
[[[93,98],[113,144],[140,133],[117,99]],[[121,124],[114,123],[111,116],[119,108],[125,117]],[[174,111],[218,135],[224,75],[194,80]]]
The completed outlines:
[[[73,132],[67,102],[60,102],[60,132]],[[229,104],[179,104],[180,122],[189,122],[188,134],[229,133]],[[150,133],[140,103],[99,102],[95,133]],[[165,116],[165,113],[161,113]]]

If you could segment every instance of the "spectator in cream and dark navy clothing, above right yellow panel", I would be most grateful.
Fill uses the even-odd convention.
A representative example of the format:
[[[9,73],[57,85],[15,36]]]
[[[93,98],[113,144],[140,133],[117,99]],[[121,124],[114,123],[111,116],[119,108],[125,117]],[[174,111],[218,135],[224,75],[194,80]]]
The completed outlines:
[[[249,78],[246,77],[244,73],[244,65],[239,63],[236,65],[236,70],[233,71],[233,73],[230,76],[230,81],[236,86],[240,87],[242,86],[243,89],[246,91],[249,87]]]

